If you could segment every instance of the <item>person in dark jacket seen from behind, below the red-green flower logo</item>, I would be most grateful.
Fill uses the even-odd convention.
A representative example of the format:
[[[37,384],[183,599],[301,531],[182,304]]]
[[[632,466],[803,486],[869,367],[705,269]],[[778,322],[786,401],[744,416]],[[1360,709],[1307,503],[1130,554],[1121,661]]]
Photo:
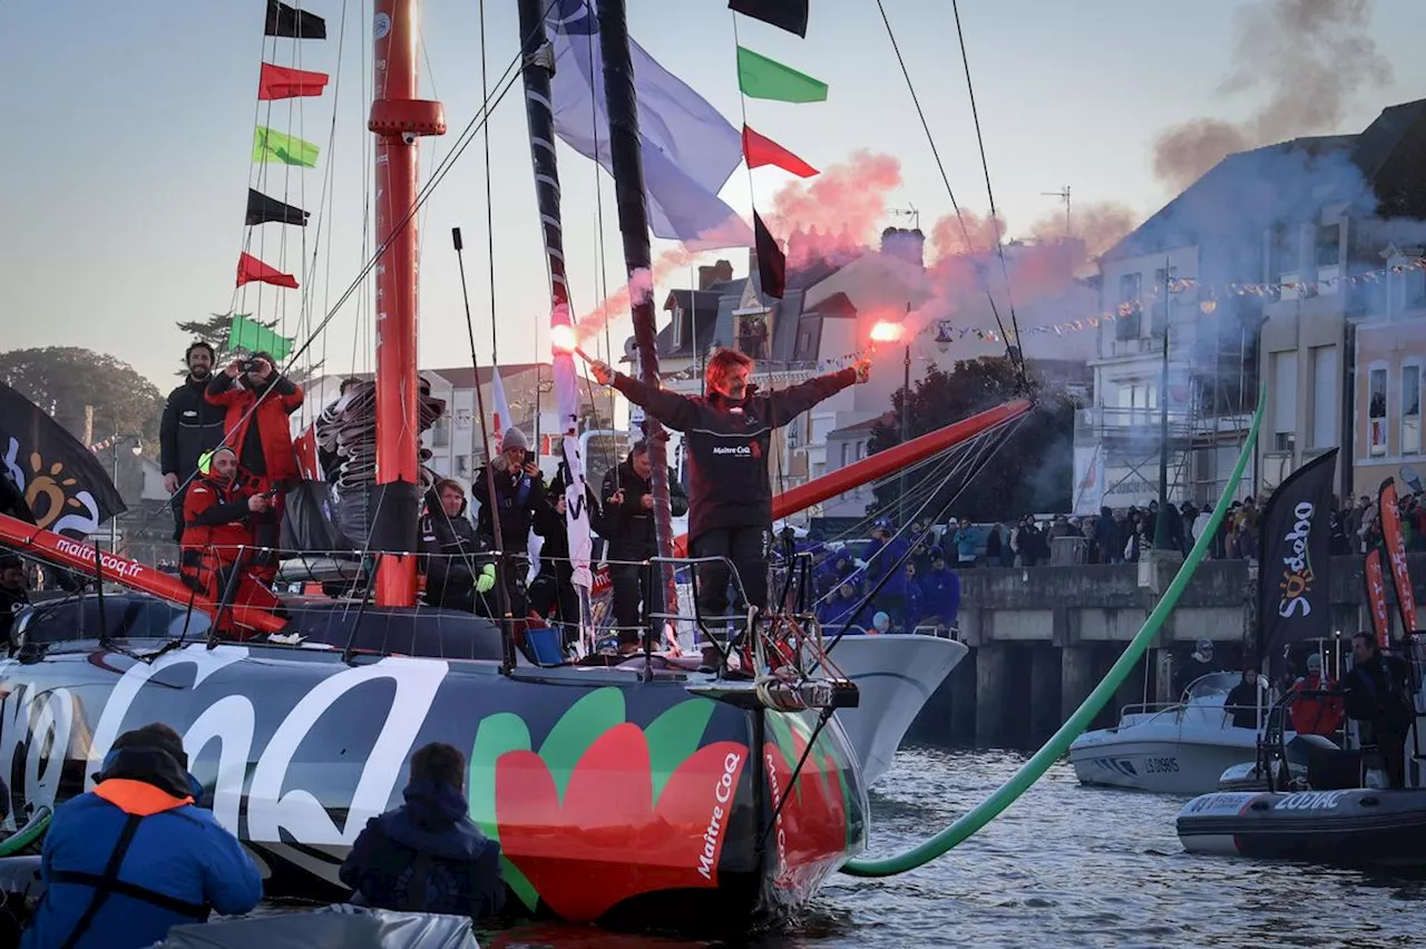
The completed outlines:
[[[411,755],[406,802],[366,821],[339,871],[381,909],[485,919],[505,905],[501,845],[471,821],[465,757],[431,742]]]

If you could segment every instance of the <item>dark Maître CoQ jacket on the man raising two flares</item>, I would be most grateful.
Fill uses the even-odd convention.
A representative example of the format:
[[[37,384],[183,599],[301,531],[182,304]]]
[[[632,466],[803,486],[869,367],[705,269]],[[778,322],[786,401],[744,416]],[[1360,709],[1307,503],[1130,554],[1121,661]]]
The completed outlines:
[[[857,380],[843,369],[763,395],[749,386],[740,400],[684,396],[615,373],[613,386],[674,432],[683,432],[689,459],[689,539],[716,527],[769,527],[773,489],[767,453],[779,429]]]

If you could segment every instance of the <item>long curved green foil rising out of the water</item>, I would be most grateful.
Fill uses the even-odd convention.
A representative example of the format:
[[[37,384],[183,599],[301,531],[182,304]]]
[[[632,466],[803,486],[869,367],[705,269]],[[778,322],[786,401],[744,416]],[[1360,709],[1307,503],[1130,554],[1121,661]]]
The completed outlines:
[[[975,834],[991,821],[994,821],[1000,814],[1008,808],[1015,799],[1030,789],[1035,781],[1038,781],[1045,771],[1050,769],[1055,761],[1060,759],[1065,751],[1070,750],[1070,744],[1079,737],[1099,710],[1112,698],[1115,690],[1119,684],[1128,678],[1129,673],[1134,670],[1134,664],[1139,661],[1148,650],[1149,643],[1158,636],[1159,628],[1162,628],[1164,621],[1168,614],[1174,611],[1178,606],[1178,600],[1184,596],[1184,588],[1188,581],[1194,577],[1194,571],[1198,570],[1198,564],[1204,561],[1204,556],[1208,553],[1208,544],[1212,537],[1218,533],[1218,526],[1222,523],[1224,517],[1228,514],[1228,507],[1232,503],[1233,489],[1242,483],[1243,472],[1248,467],[1248,460],[1252,457],[1253,446],[1258,443],[1258,427],[1262,425],[1262,410],[1268,402],[1266,386],[1259,388],[1258,392],[1258,410],[1252,416],[1252,427],[1248,432],[1248,440],[1243,443],[1243,450],[1238,455],[1238,463],[1233,465],[1233,473],[1228,477],[1228,490],[1224,496],[1218,499],[1218,504],[1214,507],[1214,516],[1208,520],[1208,526],[1204,529],[1202,536],[1194,543],[1194,549],[1188,553],[1184,560],[1184,566],[1179,567],[1178,573],[1174,576],[1174,583],[1169,584],[1168,590],[1159,598],[1158,606],[1149,614],[1144,626],[1129,641],[1128,647],[1124,650],[1124,655],[1114,664],[1088,698],[1070,715],[1070,720],[1060,727],[1050,741],[1037,751],[1030,761],[1020,767],[1010,781],[1002,784],[994,794],[980,802],[975,808],[964,814],[958,821],[951,824],[948,828],[937,834],[928,841],[913,846],[910,851],[903,854],[896,854],[894,856],[883,856],[878,859],[858,859],[848,861],[841,872],[850,876],[896,876],[897,873],[906,873],[917,866],[924,866],[938,856],[945,855],[951,848],[961,844],[965,838]]]

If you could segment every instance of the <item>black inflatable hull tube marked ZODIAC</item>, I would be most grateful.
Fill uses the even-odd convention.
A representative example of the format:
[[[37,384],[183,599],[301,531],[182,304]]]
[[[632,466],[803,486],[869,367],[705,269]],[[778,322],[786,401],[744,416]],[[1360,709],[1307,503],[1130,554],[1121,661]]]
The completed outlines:
[[[1426,869],[1426,789],[1205,794],[1178,836],[1199,854]]]

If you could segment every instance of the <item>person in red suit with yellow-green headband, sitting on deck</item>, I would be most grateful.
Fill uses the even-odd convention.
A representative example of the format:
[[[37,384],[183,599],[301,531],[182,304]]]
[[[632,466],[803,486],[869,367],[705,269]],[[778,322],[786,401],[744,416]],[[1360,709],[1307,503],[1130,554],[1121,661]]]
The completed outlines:
[[[200,477],[184,497],[183,559],[178,573],[197,593],[214,603],[227,596],[228,604],[274,608],[277,596],[252,576],[251,550],[240,563],[242,547],[252,546],[250,519],[272,507],[272,499],[258,493],[252,479],[238,472],[232,449],[221,447],[200,462]],[[250,483],[244,484],[244,480]],[[234,579],[232,571],[238,571]],[[231,588],[230,588],[231,587]],[[217,617],[220,631],[232,633],[231,610]]]

